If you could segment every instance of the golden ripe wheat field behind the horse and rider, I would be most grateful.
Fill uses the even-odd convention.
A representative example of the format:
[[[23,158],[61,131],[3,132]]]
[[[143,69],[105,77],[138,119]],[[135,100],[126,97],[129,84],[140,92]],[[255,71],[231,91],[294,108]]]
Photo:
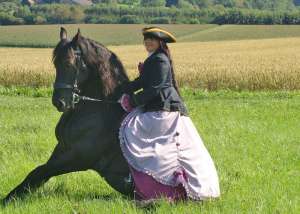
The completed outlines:
[[[180,86],[208,90],[300,89],[300,39],[169,44]],[[147,57],[142,45],[108,46],[131,78]],[[50,86],[52,49],[0,48],[0,85]]]

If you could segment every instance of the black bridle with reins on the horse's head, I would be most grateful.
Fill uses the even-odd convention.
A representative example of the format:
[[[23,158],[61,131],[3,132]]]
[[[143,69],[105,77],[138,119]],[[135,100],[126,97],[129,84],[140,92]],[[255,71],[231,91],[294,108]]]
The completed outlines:
[[[110,103],[110,104],[118,104],[117,101],[112,100],[105,100],[105,99],[96,99],[88,96],[79,95],[80,89],[78,88],[78,78],[79,73],[82,69],[87,70],[87,65],[82,59],[82,52],[77,47],[77,49],[73,49],[75,54],[75,65],[76,65],[76,73],[75,73],[75,80],[73,84],[68,84],[64,82],[55,82],[53,84],[54,89],[71,89],[72,90],[72,107],[75,107],[75,104],[79,103],[81,100],[85,101],[93,101],[93,102],[103,102],[103,103]]]

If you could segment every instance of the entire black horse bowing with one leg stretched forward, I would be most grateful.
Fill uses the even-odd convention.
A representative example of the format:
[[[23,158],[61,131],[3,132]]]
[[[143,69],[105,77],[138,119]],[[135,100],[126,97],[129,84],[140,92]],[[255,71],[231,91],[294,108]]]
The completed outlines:
[[[129,81],[119,58],[104,45],[78,33],[68,40],[61,28],[53,52],[56,79],[53,105],[63,112],[56,126],[58,140],[49,160],[31,171],[4,202],[25,195],[51,177],[93,169],[114,189],[133,195],[129,168],[119,147],[124,110],[117,102]]]

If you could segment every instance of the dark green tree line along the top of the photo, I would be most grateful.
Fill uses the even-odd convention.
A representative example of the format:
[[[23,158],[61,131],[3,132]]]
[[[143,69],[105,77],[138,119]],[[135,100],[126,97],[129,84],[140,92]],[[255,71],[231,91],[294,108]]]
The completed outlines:
[[[300,24],[300,9],[292,0],[93,0],[90,6],[57,2],[29,6],[0,0],[0,25]]]

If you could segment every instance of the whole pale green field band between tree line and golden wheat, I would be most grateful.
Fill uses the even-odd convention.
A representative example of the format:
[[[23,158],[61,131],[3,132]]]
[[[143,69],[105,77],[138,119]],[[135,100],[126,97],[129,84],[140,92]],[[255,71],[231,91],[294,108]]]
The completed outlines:
[[[133,45],[142,42],[141,24],[26,25],[0,26],[0,46],[53,47],[60,26],[70,35],[80,28],[83,35],[104,45]],[[150,26],[150,25],[149,25]],[[224,41],[299,37],[297,25],[156,25],[171,31],[178,42]]]

